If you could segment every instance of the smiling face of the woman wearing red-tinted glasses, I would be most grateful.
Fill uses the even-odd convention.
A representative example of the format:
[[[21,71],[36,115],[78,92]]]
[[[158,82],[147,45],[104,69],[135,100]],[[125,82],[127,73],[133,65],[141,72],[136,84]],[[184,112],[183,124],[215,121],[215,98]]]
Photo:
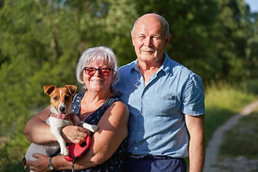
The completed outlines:
[[[91,67],[91,68],[87,68],[87,71],[83,70],[83,80],[88,91],[95,91],[95,92],[110,91],[110,86],[112,85],[114,80],[113,70],[111,70],[110,73],[107,76],[105,76],[105,74],[107,74],[107,71],[109,70],[108,68],[111,68],[110,66],[108,66],[106,63],[103,62],[103,63],[90,63],[85,67]],[[102,72],[100,72],[100,70],[95,70],[94,68],[100,69],[100,70],[101,68],[103,69],[102,69]],[[86,74],[86,72],[90,75]]]

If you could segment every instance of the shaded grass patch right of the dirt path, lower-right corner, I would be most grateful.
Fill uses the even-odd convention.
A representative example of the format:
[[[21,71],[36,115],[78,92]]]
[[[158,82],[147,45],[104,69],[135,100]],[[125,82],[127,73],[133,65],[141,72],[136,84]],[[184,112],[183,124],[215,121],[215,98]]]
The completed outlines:
[[[258,172],[258,109],[224,133],[216,170]]]

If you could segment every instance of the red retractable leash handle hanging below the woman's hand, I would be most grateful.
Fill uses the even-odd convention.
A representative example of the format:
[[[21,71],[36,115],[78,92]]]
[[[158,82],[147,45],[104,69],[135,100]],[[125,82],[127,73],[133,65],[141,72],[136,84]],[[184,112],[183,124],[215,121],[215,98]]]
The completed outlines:
[[[72,162],[72,172],[74,171],[74,163],[81,158],[89,149],[91,138],[87,135],[83,143],[72,143],[67,146],[69,151],[68,156],[63,156],[66,161]]]

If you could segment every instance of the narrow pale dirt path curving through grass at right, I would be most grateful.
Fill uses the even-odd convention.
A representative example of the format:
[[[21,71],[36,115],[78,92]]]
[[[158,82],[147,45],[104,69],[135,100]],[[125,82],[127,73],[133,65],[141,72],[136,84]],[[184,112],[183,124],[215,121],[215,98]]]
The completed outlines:
[[[220,144],[223,140],[224,132],[228,131],[233,125],[235,125],[242,116],[251,114],[256,107],[258,107],[258,101],[249,104],[242,110],[241,113],[229,118],[229,120],[225,124],[220,126],[213,133],[212,138],[208,143],[208,146],[206,147],[205,164],[203,172],[219,172],[216,168],[216,165],[218,151]]]

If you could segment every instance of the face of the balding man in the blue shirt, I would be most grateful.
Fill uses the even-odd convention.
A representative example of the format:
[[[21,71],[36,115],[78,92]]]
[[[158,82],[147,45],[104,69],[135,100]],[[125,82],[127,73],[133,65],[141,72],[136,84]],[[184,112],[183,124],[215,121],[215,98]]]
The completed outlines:
[[[170,36],[165,38],[165,28],[157,18],[139,19],[131,36],[139,60],[145,62],[163,60],[163,52],[170,41]]]

